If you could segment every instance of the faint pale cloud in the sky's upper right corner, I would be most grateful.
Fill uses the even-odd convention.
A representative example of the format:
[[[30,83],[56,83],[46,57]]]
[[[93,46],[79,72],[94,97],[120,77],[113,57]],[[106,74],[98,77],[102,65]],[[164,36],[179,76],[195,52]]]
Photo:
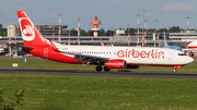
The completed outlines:
[[[196,11],[195,2],[175,2],[165,4],[162,10],[164,11]]]

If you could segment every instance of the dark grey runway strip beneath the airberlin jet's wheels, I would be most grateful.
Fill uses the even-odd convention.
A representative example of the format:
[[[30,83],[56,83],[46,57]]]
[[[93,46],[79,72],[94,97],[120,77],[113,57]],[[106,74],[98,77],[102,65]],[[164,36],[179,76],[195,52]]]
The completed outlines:
[[[197,78],[197,73],[186,72],[96,72],[70,70],[26,70],[0,69],[0,73],[39,74],[39,75],[76,75],[76,76],[115,76],[115,77],[152,77],[152,78]]]

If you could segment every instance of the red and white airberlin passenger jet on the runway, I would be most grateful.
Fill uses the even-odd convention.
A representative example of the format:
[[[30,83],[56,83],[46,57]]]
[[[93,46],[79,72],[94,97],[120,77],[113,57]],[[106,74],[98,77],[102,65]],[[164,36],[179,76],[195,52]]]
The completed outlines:
[[[173,66],[176,69],[192,63],[193,58],[184,52],[152,47],[107,47],[61,45],[45,39],[24,11],[18,11],[23,46],[26,53],[63,63],[95,64],[97,72],[111,69],[138,69],[139,65]]]

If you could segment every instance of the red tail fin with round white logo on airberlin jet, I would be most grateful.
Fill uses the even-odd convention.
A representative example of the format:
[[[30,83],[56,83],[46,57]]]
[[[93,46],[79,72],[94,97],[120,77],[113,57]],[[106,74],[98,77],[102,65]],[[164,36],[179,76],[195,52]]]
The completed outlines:
[[[18,11],[18,17],[24,46],[34,47],[36,45],[48,45],[25,12]]]

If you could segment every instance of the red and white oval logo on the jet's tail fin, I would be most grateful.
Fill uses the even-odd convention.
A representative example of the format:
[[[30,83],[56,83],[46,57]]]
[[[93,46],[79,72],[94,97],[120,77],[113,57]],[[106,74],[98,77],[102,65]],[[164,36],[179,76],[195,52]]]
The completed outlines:
[[[21,20],[22,37],[24,40],[31,41],[35,38],[34,28],[27,19]]]

